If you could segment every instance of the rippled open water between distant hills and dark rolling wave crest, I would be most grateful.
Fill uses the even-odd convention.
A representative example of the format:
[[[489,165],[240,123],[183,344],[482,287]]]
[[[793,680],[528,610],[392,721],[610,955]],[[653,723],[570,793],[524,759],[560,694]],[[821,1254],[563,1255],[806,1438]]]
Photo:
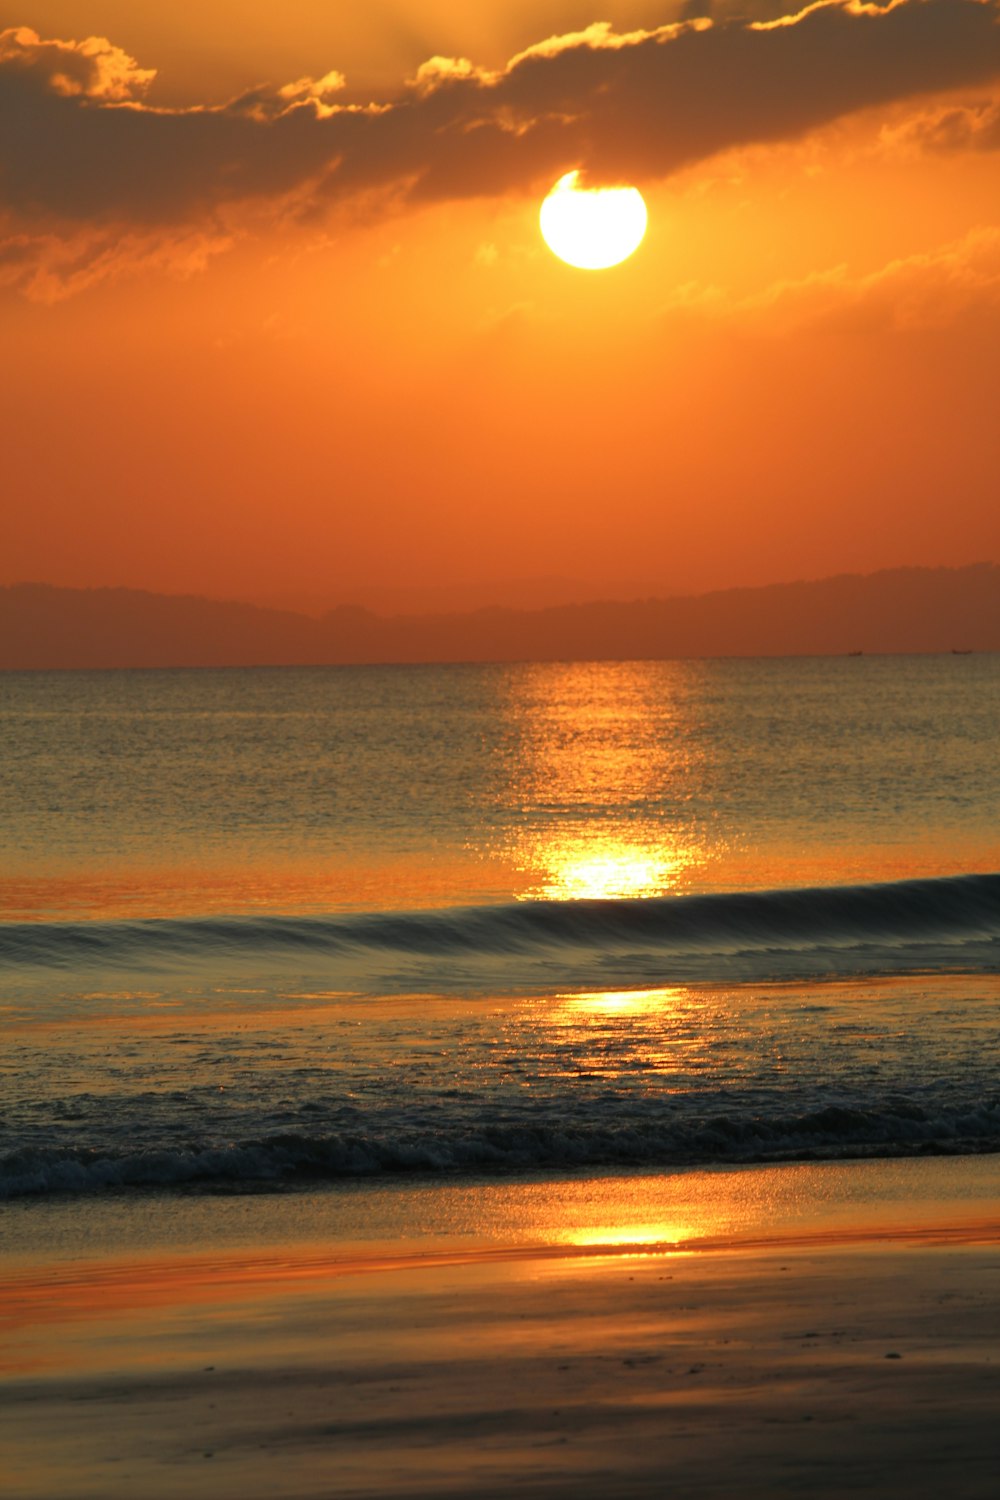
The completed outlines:
[[[0,675],[0,912],[997,867],[1000,657]]]

